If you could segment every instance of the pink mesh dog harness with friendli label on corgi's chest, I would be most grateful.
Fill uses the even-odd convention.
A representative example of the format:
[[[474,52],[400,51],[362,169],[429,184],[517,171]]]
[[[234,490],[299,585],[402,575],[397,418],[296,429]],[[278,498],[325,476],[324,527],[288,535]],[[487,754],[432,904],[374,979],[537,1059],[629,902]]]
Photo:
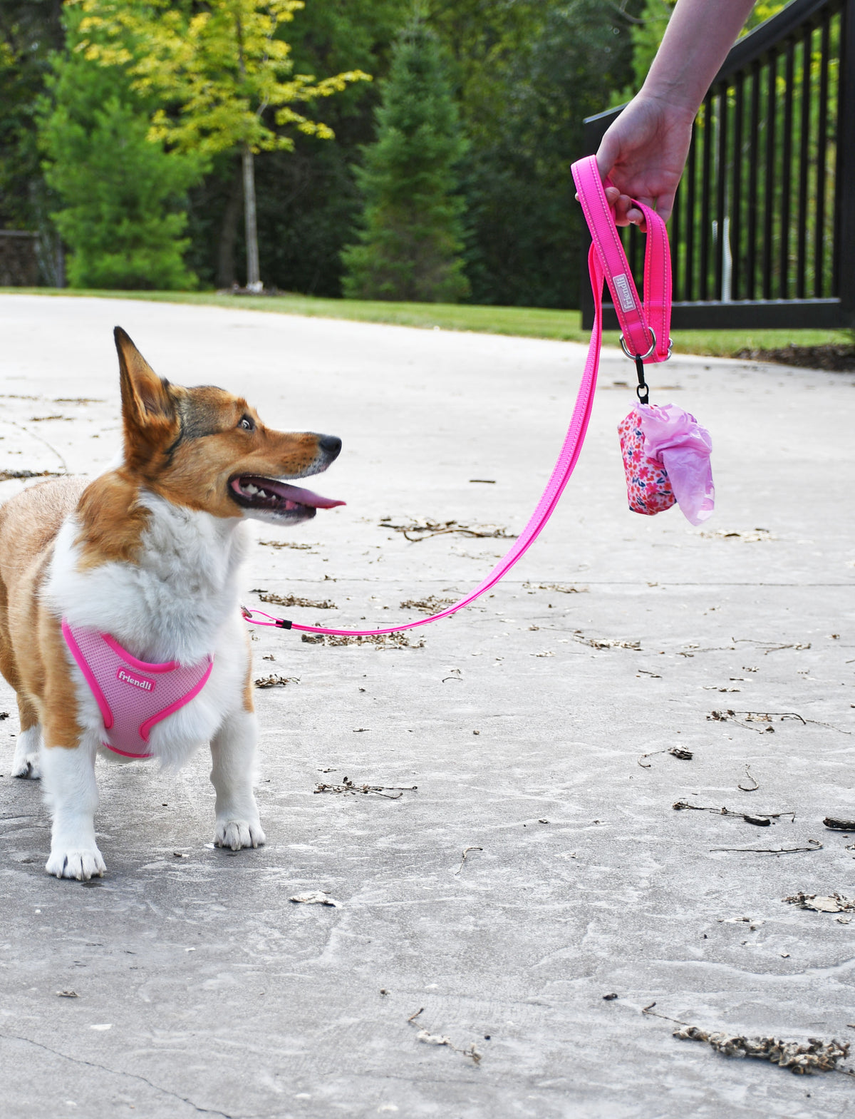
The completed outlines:
[[[108,633],[69,626],[65,618],[63,637],[101,708],[110,737],[103,744],[124,758],[151,758],[151,728],[198,696],[213,668],[210,656],[189,666],[150,665]]]

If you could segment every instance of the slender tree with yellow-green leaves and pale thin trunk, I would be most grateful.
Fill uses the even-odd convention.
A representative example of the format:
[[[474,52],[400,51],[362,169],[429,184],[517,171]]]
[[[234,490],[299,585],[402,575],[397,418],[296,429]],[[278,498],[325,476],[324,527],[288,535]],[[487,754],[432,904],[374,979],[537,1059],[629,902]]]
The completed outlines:
[[[293,106],[339,93],[369,75],[348,70],[316,81],[293,73],[283,28],[304,7],[303,0],[67,3],[85,13],[82,27],[94,32],[84,44],[86,57],[105,66],[126,65],[134,88],[160,101],[152,139],[208,156],[240,152],[247,288],[260,291],[254,157],[292,150],[292,135],[282,131],[292,126],[332,139],[329,125]]]

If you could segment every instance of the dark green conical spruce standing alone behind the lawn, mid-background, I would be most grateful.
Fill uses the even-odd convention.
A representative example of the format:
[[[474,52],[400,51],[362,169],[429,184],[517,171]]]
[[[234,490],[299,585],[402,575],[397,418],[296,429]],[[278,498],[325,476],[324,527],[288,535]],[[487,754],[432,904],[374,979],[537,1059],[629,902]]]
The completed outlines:
[[[360,244],[342,254],[344,294],[456,302],[469,286],[455,194],[465,141],[441,47],[418,17],[396,44],[376,120],[357,171],[365,207]]]

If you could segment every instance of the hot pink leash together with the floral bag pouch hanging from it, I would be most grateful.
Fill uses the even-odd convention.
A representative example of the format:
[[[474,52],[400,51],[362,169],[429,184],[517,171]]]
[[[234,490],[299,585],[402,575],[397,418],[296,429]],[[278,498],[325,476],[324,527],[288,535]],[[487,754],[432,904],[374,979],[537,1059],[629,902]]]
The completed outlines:
[[[714,491],[710,469],[712,449],[710,435],[694,416],[682,408],[673,404],[648,403],[644,376],[646,364],[666,361],[671,356],[668,337],[671,260],[665,224],[649,207],[640,203],[635,204],[644,211],[647,220],[645,302],[642,303],[617,234],[615,217],[606,200],[597,160],[593,156],[579,160],[578,163],[573,163],[572,172],[592,237],[588,269],[593,288],[593,330],[579,393],[558,461],[534,513],[509,552],[473,591],[429,618],[419,618],[416,621],[383,629],[338,629],[303,626],[286,618],[267,614],[263,610],[249,610],[244,606],[244,618],[248,622],[254,626],[274,626],[278,629],[326,633],[333,637],[383,637],[402,630],[418,629],[440,618],[448,618],[495,586],[528,552],[545,527],[579,460],[597,388],[597,370],[602,346],[604,280],[608,283],[615,300],[623,330],[624,352],[635,361],[638,373],[638,404],[619,426],[629,489],[629,508],[636,513],[654,514],[676,502],[693,525],[702,524],[712,514]]]

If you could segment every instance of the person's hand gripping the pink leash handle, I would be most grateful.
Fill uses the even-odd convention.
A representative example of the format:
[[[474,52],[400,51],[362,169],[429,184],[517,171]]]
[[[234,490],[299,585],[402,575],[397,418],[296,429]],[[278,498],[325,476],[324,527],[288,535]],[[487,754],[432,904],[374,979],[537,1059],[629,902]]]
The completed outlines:
[[[611,123],[597,151],[597,166],[605,179],[606,198],[615,207],[618,225],[644,228],[644,214],[635,198],[662,217],[671,217],[692,140],[694,113],[661,97],[639,93]]]

